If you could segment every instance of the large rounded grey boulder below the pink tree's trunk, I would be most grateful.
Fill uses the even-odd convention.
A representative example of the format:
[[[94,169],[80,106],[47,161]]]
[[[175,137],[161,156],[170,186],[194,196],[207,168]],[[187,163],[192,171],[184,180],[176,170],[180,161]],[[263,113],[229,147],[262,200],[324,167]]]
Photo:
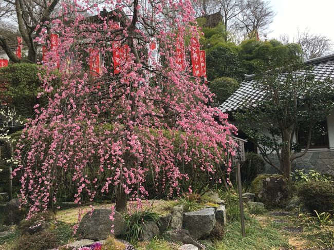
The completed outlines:
[[[95,209],[91,216],[87,213],[81,220],[78,227],[78,234],[85,239],[104,240],[111,235],[118,236],[124,233],[126,222],[120,213],[115,211],[114,221],[109,216],[112,213],[110,209]],[[114,225],[114,227],[112,227]]]

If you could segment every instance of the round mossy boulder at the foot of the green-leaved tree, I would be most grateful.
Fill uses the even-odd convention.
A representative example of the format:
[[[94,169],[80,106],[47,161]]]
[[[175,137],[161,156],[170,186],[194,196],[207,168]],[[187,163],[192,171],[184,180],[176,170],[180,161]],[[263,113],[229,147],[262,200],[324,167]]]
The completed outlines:
[[[281,175],[259,175],[251,184],[255,201],[267,207],[284,207],[289,198],[288,180]]]

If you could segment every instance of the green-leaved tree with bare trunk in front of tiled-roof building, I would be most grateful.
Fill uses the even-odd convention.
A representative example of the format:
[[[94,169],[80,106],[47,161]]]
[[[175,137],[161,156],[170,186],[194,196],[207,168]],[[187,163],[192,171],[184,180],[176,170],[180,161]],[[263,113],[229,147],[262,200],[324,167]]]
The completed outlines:
[[[253,87],[262,97],[245,100],[244,110],[234,117],[264,160],[290,180],[292,162],[305,155],[316,136],[314,126],[334,108],[333,81],[326,79],[319,87],[312,69],[298,56],[271,58],[258,67],[254,77]],[[301,129],[305,142],[297,140]]]

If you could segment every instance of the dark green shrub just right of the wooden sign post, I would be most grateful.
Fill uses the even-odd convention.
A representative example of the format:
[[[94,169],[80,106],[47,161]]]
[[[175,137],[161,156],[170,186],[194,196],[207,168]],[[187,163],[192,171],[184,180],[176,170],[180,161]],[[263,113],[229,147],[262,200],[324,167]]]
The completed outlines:
[[[263,174],[266,170],[266,162],[257,153],[246,153],[245,162],[240,168],[241,179],[244,187],[248,187],[257,175]]]

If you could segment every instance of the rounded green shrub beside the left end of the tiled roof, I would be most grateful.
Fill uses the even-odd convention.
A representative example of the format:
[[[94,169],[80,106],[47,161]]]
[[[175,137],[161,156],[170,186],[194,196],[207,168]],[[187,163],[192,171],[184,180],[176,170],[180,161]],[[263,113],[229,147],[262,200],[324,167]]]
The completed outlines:
[[[223,103],[239,88],[238,82],[233,78],[217,78],[210,84],[211,91],[216,95],[217,105]]]

